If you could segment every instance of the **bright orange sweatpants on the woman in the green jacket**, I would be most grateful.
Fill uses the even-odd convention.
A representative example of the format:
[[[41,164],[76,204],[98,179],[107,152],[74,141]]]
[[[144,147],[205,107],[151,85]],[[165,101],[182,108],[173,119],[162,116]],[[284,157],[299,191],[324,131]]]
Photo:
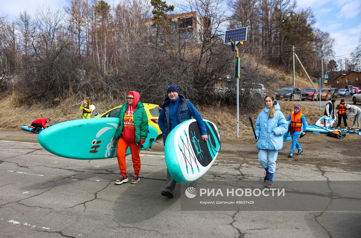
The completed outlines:
[[[117,159],[119,164],[120,173],[123,177],[127,176],[127,164],[125,163],[125,152],[127,148],[130,148],[130,152],[132,154],[132,161],[133,161],[133,169],[134,174],[139,176],[140,171],[140,145],[137,145],[135,142],[128,143],[123,137],[118,139],[118,148],[117,148]]]

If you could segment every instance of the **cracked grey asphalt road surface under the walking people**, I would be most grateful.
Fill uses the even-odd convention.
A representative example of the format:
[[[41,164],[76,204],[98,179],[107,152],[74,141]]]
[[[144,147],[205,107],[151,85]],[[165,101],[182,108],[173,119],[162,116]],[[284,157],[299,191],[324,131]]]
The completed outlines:
[[[201,180],[263,179],[254,146],[222,146]],[[361,237],[356,211],[180,211],[179,185],[173,199],[160,195],[166,179],[160,151],[140,153],[139,183],[114,185],[120,176],[116,159],[72,160],[38,143],[2,140],[0,237]],[[361,180],[360,171],[286,160],[283,153],[275,182]],[[126,161],[132,176],[131,157]]]

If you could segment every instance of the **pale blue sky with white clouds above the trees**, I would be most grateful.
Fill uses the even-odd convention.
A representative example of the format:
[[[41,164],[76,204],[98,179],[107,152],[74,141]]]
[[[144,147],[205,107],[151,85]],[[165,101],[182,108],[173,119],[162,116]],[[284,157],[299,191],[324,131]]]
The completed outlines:
[[[120,0],[105,1],[114,5]],[[171,0],[166,1],[172,4]],[[14,20],[20,11],[26,9],[32,14],[37,5],[44,3],[54,8],[62,8],[66,0],[2,1],[0,15],[8,15],[9,20]],[[335,56],[351,57],[349,53],[357,46],[361,33],[361,0],[299,0],[297,5],[299,8],[311,7],[317,19],[315,26],[336,39]]]

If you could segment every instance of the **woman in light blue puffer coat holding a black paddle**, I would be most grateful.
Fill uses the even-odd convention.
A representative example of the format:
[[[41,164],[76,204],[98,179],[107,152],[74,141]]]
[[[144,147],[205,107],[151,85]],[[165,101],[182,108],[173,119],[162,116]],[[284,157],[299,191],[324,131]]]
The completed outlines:
[[[267,95],[265,104],[265,109],[257,117],[255,140],[257,141],[256,147],[260,150],[258,161],[266,170],[263,181],[266,182],[266,186],[272,187],[277,155],[283,147],[283,134],[288,131],[288,123],[273,96]]]

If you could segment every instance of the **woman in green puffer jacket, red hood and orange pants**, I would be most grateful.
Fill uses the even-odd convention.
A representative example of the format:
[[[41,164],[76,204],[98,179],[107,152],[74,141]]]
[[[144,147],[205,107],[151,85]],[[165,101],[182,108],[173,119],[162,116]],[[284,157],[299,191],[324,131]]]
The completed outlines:
[[[132,154],[134,177],[130,183],[140,181],[140,145],[145,142],[148,130],[148,116],[144,110],[144,104],[139,101],[140,95],[136,91],[127,94],[127,103],[124,103],[115,117],[120,118],[117,133],[114,135],[118,139],[117,159],[121,177],[116,184],[129,181],[127,177],[127,165],[125,163],[125,153],[129,146]]]

